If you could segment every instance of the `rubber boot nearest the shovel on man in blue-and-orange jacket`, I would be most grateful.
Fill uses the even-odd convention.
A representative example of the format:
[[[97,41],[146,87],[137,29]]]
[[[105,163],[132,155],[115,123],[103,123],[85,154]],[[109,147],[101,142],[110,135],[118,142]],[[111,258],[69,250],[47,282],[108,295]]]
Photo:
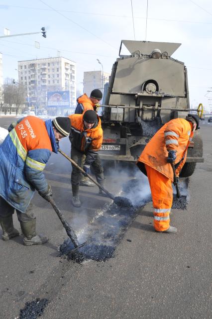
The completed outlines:
[[[36,219],[28,221],[20,221],[20,227],[23,232],[23,244],[24,246],[42,245],[48,241],[48,238],[43,235],[36,235]]]

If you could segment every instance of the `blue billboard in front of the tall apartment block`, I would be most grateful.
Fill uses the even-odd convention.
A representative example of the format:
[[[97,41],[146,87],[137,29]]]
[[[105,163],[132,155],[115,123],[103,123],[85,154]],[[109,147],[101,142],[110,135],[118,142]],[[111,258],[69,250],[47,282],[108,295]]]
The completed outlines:
[[[47,106],[57,107],[64,106],[69,107],[69,91],[53,91],[47,92]]]

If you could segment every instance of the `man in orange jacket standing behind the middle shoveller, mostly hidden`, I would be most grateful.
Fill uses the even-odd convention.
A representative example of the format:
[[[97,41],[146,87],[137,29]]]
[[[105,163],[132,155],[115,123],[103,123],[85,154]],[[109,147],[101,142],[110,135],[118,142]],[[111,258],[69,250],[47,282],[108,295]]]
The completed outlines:
[[[77,107],[75,109],[75,114],[83,114],[86,110],[92,109],[97,112],[97,104],[102,100],[103,94],[99,89],[95,89],[91,92],[90,98],[87,96],[86,93],[81,95],[77,99]],[[86,156],[82,156],[82,162],[81,162],[81,167],[83,168],[84,163],[85,163]],[[89,180],[88,177],[84,176],[83,174],[80,174],[80,185],[81,186],[95,186],[95,184]]]

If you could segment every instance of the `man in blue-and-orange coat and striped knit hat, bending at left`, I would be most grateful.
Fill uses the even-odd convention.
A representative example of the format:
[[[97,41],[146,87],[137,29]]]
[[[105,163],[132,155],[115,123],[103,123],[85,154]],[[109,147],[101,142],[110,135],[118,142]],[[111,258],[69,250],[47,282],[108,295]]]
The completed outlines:
[[[24,245],[44,244],[45,236],[36,235],[35,216],[30,201],[35,190],[46,201],[52,196],[43,174],[51,152],[57,153],[57,143],[70,133],[70,119],[56,117],[43,121],[35,116],[21,119],[0,145],[0,225],[2,239],[18,236],[12,214],[16,210]]]

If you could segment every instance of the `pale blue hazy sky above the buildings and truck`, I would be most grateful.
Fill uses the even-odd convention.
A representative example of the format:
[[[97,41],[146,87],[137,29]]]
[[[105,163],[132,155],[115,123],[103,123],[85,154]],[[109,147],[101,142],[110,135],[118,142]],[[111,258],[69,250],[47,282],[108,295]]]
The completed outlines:
[[[133,27],[134,21],[134,27]],[[77,65],[77,90],[83,92],[83,72],[110,73],[121,40],[177,42],[172,55],[188,68],[190,106],[212,107],[211,0],[0,0],[3,78],[18,79],[17,61],[60,56]],[[40,49],[35,48],[35,41]],[[123,53],[126,53],[124,51]]]

